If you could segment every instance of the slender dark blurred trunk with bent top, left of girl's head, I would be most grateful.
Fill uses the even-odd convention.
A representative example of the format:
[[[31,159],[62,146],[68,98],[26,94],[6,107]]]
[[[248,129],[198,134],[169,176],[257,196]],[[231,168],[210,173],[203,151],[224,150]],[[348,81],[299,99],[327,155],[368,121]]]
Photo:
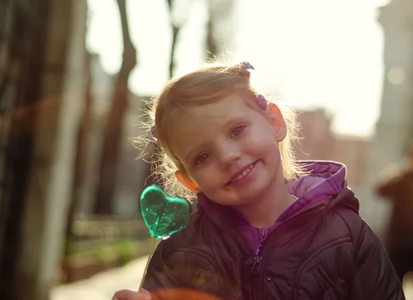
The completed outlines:
[[[123,120],[128,107],[129,74],[136,66],[136,49],[131,42],[127,23],[126,0],[117,0],[123,33],[123,62],[112,95],[112,107],[105,128],[103,151],[100,157],[100,172],[94,212],[111,214],[116,188],[117,165]]]

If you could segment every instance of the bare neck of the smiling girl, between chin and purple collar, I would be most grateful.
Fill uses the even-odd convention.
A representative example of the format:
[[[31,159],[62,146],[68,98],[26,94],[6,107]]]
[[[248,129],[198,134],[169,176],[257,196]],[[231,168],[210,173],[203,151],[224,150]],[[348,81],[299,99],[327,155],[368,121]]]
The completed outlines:
[[[282,173],[282,172],[279,172]],[[251,205],[234,207],[247,218],[253,227],[268,228],[295,201],[288,193],[284,178],[279,178],[265,194],[257,196],[259,200]]]

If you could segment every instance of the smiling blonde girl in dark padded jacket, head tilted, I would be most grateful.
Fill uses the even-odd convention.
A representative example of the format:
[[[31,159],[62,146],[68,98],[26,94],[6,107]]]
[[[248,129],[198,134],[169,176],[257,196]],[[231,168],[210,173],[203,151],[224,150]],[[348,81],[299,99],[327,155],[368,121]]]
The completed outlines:
[[[346,168],[295,161],[295,116],[251,86],[247,62],[171,80],[149,124],[168,194],[198,197],[189,226],[156,249],[149,292],[224,300],[404,299]],[[151,143],[153,144],[153,143]],[[151,299],[121,290],[114,299]]]

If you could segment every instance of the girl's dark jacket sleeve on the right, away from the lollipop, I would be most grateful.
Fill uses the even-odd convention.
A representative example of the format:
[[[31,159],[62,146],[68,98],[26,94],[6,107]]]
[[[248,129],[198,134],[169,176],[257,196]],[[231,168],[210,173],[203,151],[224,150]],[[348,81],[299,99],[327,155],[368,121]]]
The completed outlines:
[[[405,300],[399,277],[379,238],[355,213],[346,223],[354,247],[350,299]]]

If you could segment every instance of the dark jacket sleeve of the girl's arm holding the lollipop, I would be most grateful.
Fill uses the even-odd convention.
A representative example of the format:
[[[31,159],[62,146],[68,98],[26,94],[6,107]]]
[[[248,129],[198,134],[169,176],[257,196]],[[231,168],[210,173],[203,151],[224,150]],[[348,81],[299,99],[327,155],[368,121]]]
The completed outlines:
[[[196,251],[172,248],[169,240],[160,242],[149,262],[143,288],[149,292],[197,290],[220,297],[222,280],[211,260]]]

